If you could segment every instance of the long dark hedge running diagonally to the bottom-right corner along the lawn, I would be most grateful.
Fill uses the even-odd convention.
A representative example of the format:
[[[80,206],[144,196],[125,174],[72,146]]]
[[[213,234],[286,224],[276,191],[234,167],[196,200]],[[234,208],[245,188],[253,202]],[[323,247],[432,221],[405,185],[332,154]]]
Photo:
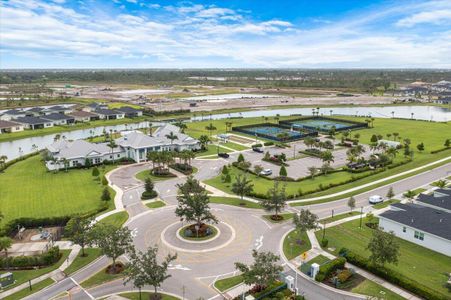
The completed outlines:
[[[421,282],[407,278],[396,271],[387,269],[383,266],[374,265],[367,258],[360,256],[349,249],[342,248],[339,253],[341,256],[345,257],[349,263],[365,269],[422,298],[429,300],[449,299],[449,295],[440,294],[440,292],[423,285]]]

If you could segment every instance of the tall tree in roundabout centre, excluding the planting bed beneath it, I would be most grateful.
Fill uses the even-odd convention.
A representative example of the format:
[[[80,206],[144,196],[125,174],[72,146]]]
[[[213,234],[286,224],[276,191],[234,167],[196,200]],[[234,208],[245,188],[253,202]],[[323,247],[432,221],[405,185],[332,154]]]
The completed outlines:
[[[175,215],[180,217],[181,221],[195,222],[197,228],[200,228],[205,222],[218,223],[216,217],[211,213],[207,191],[199,184],[199,181],[190,177],[190,182],[177,185],[179,188],[178,205]]]

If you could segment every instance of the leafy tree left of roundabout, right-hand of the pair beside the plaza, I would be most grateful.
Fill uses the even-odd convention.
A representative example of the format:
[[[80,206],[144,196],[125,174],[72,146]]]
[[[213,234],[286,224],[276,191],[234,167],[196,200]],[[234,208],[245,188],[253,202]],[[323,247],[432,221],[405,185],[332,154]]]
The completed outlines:
[[[131,249],[132,236],[127,227],[99,223],[93,230],[93,241],[102,253],[113,260],[112,273],[116,273],[116,260]]]

